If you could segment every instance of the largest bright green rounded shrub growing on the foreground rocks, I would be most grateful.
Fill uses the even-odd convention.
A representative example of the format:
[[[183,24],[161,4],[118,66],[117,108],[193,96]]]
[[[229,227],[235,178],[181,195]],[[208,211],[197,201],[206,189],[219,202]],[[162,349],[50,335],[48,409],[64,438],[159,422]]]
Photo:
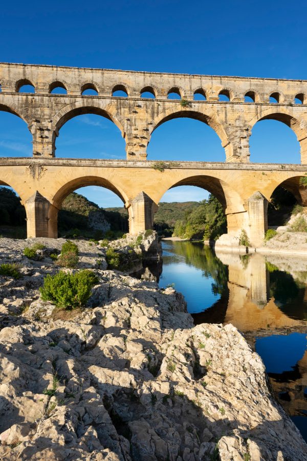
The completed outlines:
[[[85,306],[91,296],[92,288],[98,283],[97,276],[88,269],[75,274],[59,271],[54,276],[48,275],[40,288],[41,299],[51,301],[57,307],[75,309]]]

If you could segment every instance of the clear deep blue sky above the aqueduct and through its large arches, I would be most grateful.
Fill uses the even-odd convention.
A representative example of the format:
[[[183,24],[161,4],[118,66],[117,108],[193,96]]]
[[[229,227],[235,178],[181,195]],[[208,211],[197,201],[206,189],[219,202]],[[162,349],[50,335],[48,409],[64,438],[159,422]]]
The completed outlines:
[[[14,2],[1,8],[0,60],[26,64],[307,78],[307,5],[296,2],[156,0],[155,2]],[[125,143],[109,120],[82,115],[67,122],[56,156],[125,158]],[[299,162],[299,145],[286,125],[258,122],[251,161]],[[153,134],[148,159],[224,161],[221,141],[202,122],[171,120]],[[32,155],[23,120],[0,112],[0,155]],[[80,191],[81,192],[81,191]],[[83,190],[100,206],[118,206],[113,193]],[[178,187],[164,201],[201,200],[205,191]]]

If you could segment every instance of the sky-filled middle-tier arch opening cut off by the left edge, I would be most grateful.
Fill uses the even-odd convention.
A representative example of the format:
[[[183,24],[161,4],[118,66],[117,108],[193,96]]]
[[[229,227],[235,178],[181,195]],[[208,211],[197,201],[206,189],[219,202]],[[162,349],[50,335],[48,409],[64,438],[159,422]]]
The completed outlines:
[[[0,104],[0,157],[31,157],[32,135],[27,123]]]

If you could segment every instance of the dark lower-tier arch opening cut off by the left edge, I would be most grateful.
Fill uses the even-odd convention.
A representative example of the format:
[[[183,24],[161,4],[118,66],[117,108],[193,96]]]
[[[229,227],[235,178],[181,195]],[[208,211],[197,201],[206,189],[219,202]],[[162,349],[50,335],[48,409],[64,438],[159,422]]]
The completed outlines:
[[[27,238],[26,209],[17,192],[0,181],[0,234],[11,239]]]

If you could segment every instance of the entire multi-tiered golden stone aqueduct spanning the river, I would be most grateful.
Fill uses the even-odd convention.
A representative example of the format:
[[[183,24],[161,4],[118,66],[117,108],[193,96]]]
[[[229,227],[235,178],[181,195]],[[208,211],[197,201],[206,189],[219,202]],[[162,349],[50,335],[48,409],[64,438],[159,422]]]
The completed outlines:
[[[32,85],[35,93],[21,93]],[[0,64],[0,110],[22,118],[33,136],[33,158],[0,158],[0,184],[19,194],[27,212],[28,237],[57,237],[57,213],[78,187],[100,185],[115,192],[129,213],[129,229],[150,228],[164,193],[196,185],[213,193],[227,215],[228,233],[246,232],[258,246],[267,228],[267,204],[278,185],[307,205],[307,81]],[[61,87],[67,94],[53,94]],[[94,89],[96,96],[82,94]],[[127,97],[113,93],[123,90]],[[141,97],[151,92],[152,98]],[[177,93],[179,100],[168,99]],[[206,99],[194,100],[195,94]],[[219,96],[229,101],[220,101]],[[252,102],[245,102],[245,96]],[[270,102],[270,96],[276,103]],[[299,101],[299,103],[296,103]],[[56,158],[62,125],[85,113],[102,115],[120,129],[126,160]],[[163,122],[189,117],[208,124],[220,137],[225,162],[171,162],[164,171],[147,160],[152,132]],[[249,162],[254,124],[275,119],[296,134],[301,164]],[[289,153],[291,158],[291,153]]]

